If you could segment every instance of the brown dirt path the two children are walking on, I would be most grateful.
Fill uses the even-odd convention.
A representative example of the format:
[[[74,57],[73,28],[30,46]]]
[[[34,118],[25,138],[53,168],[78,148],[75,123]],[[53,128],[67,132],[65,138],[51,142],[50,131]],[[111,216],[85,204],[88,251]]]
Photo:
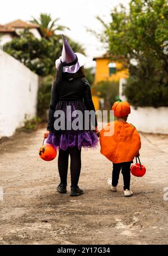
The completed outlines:
[[[168,243],[168,136],[141,136],[147,174],[132,177],[134,196],[128,198],[122,177],[118,192],[106,185],[111,163],[100,149],[82,150],[85,194],[70,197],[69,187],[68,194],[55,191],[57,159],[46,163],[38,156],[43,132],[17,134],[0,145],[0,244]]]

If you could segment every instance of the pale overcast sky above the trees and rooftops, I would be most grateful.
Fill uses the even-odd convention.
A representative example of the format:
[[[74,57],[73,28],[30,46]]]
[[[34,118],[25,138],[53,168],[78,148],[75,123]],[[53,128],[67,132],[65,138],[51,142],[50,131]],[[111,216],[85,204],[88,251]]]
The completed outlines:
[[[59,24],[67,26],[64,34],[83,44],[86,49],[87,66],[95,56],[105,52],[104,47],[96,38],[87,32],[86,28],[101,31],[102,27],[96,16],[99,15],[107,23],[110,21],[110,11],[119,3],[127,5],[129,0],[5,0],[1,2],[0,24],[12,20],[28,21],[32,16],[39,17],[41,12],[59,17]]]

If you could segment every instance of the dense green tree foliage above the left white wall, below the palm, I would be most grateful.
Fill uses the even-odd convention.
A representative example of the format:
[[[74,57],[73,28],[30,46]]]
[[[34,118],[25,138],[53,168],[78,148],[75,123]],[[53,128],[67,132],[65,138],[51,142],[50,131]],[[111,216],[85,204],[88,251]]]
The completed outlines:
[[[50,39],[37,39],[26,29],[20,37],[4,45],[4,51],[21,61],[30,70],[41,77],[55,73],[55,60],[62,52],[62,36],[53,35]],[[82,51],[79,44],[73,42],[74,51]]]

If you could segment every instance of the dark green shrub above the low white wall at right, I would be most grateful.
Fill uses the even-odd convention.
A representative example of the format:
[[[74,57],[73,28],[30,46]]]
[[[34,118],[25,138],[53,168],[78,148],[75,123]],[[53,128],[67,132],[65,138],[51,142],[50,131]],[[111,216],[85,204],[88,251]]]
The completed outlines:
[[[146,64],[146,63],[145,63]],[[168,106],[168,82],[165,71],[160,64],[151,62],[151,70],[148,65],[130,69],[130,77],[124,87],[124,94],[133,106]],[[163,79],[161,80],[161,73]]]

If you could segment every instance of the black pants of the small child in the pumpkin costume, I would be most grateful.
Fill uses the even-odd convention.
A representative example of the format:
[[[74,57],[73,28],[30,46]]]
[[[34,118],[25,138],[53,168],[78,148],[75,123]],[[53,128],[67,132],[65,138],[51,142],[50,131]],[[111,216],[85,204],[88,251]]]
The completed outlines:
[[[122,169],[123,181],[124,181],[124,190],[128,189],[130,186],[130,164],[132,162],[124,163],[113,163],[113,172],[112,172],[112,185],[116,187],[118,185],[120,170]]]

